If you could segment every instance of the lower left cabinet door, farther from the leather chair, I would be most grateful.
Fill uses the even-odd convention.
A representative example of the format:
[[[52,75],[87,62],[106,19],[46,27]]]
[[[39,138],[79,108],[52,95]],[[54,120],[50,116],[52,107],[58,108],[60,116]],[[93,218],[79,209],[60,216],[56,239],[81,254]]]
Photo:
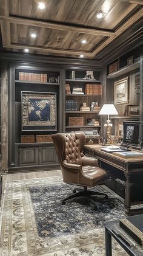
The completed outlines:
[[[38,148],[19,148],[19,166],[38,165]]]

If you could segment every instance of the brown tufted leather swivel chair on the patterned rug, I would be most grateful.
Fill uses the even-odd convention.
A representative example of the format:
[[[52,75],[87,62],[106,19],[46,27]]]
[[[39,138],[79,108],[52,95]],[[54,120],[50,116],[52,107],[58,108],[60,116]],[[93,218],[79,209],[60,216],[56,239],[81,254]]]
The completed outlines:
[[[61,165],[63,181],[67,184],[83,186],[82,189],[74,189],[74,195],[62,200],[62,204],[71,198],[85,196],[97,210],[95,201],[90,195],[104,195],[91,190],[87,187],[94,187],[109,178],[109,174],[98,166],[98,161],[93,157],[86,157],[82,153],[85,144],[85,135],[82,131],[71,133],[53,134],[52,139],[56,148],[59,163]],[[79,191],[76,193],[76,190]]]

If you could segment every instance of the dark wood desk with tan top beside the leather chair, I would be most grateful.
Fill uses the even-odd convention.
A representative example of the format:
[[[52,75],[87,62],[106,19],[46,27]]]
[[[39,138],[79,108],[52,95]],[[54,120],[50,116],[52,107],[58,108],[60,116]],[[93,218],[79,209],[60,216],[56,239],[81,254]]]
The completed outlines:
[[[110,165],[110,167],[115,167],[118,170],[121,170],[122,173],[124,173],[124,176],[125,176],[124,206],[125,206],[126,213],[129,214],[131,210],[131,205],[143,203],[143,193],[141,193],[140,198],[136,198],[133,201],[131,201],[131,186],[134,185],[133,183],[134,181],[131,178],[136,175],[143,175],[143,157],[133,157],[133,158],[119,157],[111,153],[106,153],[102,151],[101,148],[102,146],[98,144],[85,145],[84,152],[90,156],[96,157],[99,161]],[[143,186],[141,185],[141,187]],[[138,209],[138,210],[140,211],[139,213],[141,213],[141,209]],[[136,212],[138,212],[138,210],[136,210]]]

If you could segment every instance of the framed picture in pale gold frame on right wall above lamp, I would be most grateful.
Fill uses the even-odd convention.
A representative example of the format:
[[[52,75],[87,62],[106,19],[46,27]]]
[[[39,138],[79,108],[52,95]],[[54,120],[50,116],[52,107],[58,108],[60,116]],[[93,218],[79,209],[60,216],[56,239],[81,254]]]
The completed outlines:
[[[128,103],[128,77],[114,83],[114,103]]]

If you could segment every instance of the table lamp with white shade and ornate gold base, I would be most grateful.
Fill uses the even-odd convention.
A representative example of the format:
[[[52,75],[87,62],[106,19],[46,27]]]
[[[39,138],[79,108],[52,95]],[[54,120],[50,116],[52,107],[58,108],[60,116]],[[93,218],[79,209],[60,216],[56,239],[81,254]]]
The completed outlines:
[[[99,115],[107,115],[107,123],[105,123],[105,127],[107,128],[107,144],[111,142],[111,121],[109,119],[109,115],[118,115],[118,112],[113,104],[104,104],[99,112]]]

